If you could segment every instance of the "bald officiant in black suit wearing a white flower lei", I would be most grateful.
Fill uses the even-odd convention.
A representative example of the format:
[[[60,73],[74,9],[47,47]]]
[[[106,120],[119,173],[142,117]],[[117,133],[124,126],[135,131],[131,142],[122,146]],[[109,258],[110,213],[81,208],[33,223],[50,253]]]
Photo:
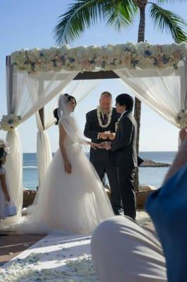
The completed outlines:
[[[115,126],[120,114],[112,108],[112,94],[101,93],[97,109],[86,114],[86,125],[84,135],[91,139],[91,142],[101,143],[115,139]],[[98,173],[101,181],[105,173],[108,176],[111,190],[111,204],[115,214],[120,214],[121,200],[120,190],[117,181],[117,167],[113,164],[110,152],[105,149],[90,149],[90,161]]]

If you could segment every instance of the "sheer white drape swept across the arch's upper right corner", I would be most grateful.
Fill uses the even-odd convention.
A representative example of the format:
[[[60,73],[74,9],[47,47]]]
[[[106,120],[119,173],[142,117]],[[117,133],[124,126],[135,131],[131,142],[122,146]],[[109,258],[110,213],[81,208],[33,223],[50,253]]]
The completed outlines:
[[[148,104],[160,116],[174,124],[176,115],[187,110],[187,63],[179,68],[146,68],[143,70],[122,68],[114,71],[135,96]]]

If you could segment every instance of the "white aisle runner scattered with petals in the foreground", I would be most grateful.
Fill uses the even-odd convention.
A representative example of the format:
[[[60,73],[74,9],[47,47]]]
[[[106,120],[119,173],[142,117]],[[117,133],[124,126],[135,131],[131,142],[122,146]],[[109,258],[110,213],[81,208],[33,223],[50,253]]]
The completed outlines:
[[[4,264],[0,281],[98,281],[91,262],[90,239],[84,235],[48,235]]]

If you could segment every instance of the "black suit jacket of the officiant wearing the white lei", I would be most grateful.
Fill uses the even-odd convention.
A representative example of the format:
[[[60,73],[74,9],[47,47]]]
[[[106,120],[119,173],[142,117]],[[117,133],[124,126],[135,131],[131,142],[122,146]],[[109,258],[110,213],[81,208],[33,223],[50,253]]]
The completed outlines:
[[[115,123],[117,122],[118,118],[120,118],[120,114],[117,114],[116,109],[113,108],[110,125],[108,125],[107,128],[102,128],[98,123],[97,110],[94,109],[92,111],[89,111],[89,113],[86,114],[84,135],[90,138],[91,141],[95,143],[109,141],[109,140],[98,139],[98,133],[109,131],[109,130],[111,133],[115,133]],[[109,158],[110,158],[110,152],[106,151],[105,149],[93,149],[93,148],[90,149],[91,161],[108,161]]]

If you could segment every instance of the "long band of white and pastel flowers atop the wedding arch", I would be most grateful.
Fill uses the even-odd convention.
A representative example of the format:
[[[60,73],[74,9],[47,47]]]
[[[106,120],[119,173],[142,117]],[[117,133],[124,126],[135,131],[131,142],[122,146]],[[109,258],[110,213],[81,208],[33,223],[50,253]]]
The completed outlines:
[[[52,47],[22,49],[11,54],[11,64],[28,73],[60,71],[112,71],[120,68],[177,68],[187,56],[187,43],[151,45],[148,42],[108,44],[106,47]]]

